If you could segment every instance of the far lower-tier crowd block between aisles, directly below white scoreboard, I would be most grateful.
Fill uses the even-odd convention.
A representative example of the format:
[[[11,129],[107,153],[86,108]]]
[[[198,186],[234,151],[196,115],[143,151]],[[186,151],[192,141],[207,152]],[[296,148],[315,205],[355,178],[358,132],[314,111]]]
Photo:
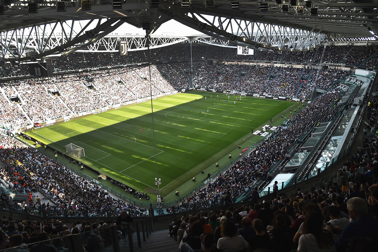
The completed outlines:
[[[235,87],[236,90],[247,93],[262,94],[265,92],[265,87],[269,83],[268,77],[272,68],[277,69],[277,71],[280,69],[273,66],[252,65],[251,70],[249,70],[245,78],[239,79],[239,82]]]

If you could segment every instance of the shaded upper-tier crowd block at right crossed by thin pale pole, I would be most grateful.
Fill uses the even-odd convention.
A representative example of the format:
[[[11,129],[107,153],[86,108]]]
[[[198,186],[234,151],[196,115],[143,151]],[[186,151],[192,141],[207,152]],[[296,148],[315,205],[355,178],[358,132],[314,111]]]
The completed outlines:
[[[340,45],[340,46],[324,46],[319,47],[318,52],[316,53],[316,57],[314,63],[324,63],[324,64],[339,64],[341,59],[345,56],[345,54],[349,51],[351,46],[347,45]],[[324,51],[324,56],[322,59]],[[321,61],[321,62],[320,62]]]

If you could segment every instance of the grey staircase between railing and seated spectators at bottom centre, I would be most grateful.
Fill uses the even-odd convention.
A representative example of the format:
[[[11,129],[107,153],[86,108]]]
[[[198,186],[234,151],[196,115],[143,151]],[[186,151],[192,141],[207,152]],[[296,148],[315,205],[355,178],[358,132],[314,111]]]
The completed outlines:
[[[174,252],[179,251],[179,243],[169,236],[169,230],[152,232],[139,252]]]

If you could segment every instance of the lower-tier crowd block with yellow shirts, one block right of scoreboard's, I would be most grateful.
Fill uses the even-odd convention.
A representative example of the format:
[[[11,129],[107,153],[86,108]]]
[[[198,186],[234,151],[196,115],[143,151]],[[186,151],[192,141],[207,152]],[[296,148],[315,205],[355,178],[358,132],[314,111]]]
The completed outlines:
[[[276,80],[272,80],[265,92],[274,96],[294,97],[298,91],[299,76],[303,68],[282,67]]]

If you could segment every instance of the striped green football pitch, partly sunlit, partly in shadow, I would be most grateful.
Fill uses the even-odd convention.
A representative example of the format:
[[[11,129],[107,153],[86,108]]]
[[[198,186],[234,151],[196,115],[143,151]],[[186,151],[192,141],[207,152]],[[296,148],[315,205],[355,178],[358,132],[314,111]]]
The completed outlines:
[[[205,99],[207,95],[214,97]],[[236,148],[237,141],[293,105],[293,102],[253,97],[242,97],[234,104],[236,96],[230,96],[226,102],[224,94],[218,95],[220,100],[217,93],[192,91],[153,101],[162,196],[206,169],[208,166],[201,166],[205,161],[222,158],[226,155],[222,151],[228,151],[227,147]],[[83,147],[84,164],[135,189],[157,193],[150,102],[28,134],[62,152],[69,143]]]

